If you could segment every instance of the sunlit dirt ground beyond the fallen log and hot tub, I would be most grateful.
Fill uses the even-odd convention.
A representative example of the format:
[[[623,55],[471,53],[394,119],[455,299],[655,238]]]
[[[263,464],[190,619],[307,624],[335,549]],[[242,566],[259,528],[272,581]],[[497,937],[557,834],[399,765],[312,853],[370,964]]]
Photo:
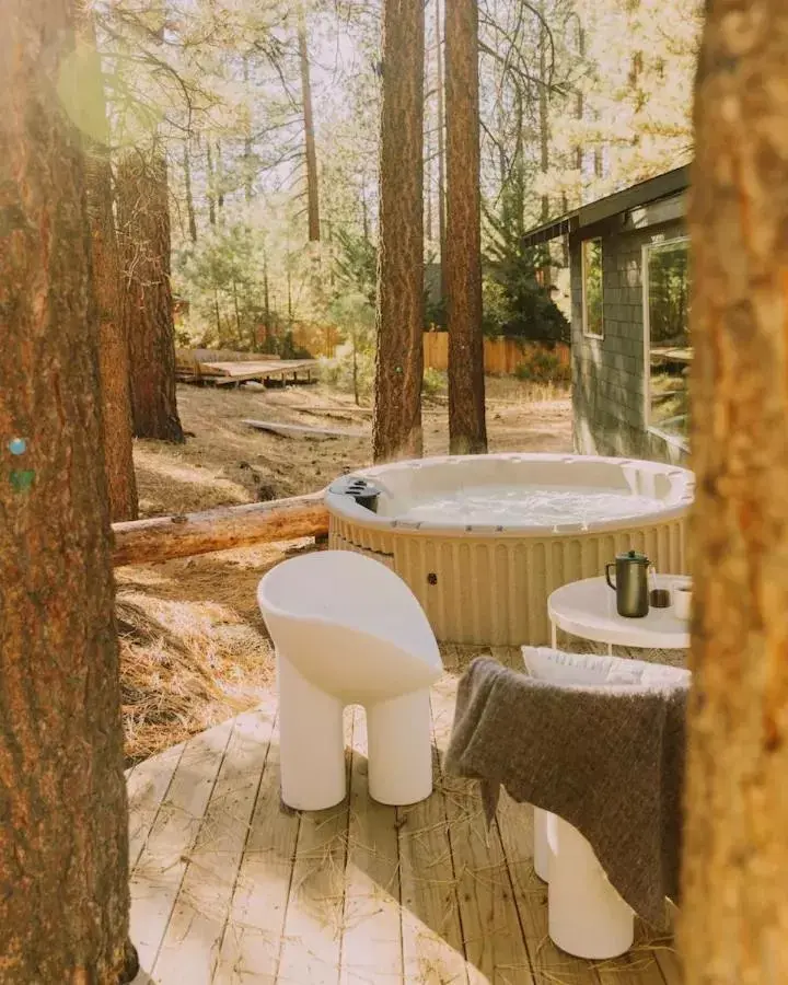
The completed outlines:
[[[370,464],[369,438],[288,437],[256,431],[244,418],[370,433],[370,408],[325,386],[227,390],[183,384],[185,445],[138,441],[140,514],[193,512],[322,489],[343,470]],[[445,454],[445,398],[425,403],[425,453]],[[487,381],[490,451],[570,451],[568,396],[514,379]]]

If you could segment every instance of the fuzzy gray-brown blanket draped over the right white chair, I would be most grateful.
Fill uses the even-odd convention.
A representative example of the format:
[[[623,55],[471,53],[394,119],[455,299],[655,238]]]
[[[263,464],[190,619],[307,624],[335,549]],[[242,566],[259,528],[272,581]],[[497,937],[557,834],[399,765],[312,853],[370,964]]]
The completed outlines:
[[[677,900],[687,686],[566,687],[479,657],[457,691],[445,767],[564,818],[644,919]]]

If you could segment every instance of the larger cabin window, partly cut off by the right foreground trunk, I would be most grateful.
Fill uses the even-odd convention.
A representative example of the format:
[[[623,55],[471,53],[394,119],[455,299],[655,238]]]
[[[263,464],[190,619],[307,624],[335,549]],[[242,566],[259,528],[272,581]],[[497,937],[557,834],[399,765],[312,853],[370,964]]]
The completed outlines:
[[[690,240],[644,247],[646,420],[686,448],[690,428]]]

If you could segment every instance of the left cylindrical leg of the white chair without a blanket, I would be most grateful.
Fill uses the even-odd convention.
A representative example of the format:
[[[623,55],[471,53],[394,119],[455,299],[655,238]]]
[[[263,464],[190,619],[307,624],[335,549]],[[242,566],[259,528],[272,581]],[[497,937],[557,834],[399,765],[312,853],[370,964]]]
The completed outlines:
[[[311,684],[277,652],[281,797],[288,807],[320,811],[345,798],[344,706]]]

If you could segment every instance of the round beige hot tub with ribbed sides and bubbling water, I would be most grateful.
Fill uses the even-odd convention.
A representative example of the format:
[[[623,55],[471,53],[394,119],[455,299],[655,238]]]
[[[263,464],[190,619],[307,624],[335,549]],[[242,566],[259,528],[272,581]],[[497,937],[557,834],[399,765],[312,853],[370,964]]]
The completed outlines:
[[[380,490],[375,510],[349,493]],[[547,596],[635,548],[684,573],[694,476],[591,455],[456,455],[363,470],[326,493],[329,545],[393,568],[439,640],[545,644]]]

